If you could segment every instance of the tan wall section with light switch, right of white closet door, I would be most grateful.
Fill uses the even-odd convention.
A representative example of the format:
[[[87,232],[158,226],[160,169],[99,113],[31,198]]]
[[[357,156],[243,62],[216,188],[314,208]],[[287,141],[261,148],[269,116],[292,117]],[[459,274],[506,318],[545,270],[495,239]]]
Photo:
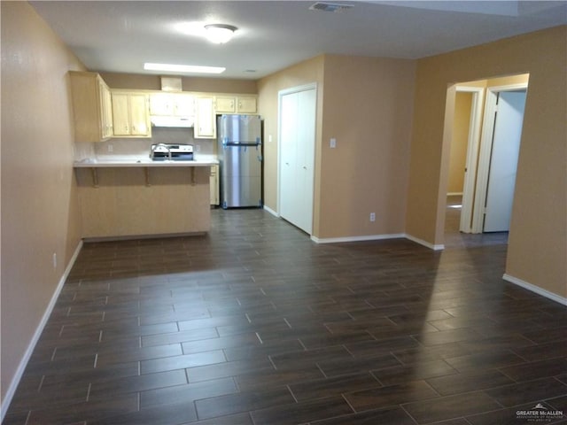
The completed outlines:
[[[325,56],[317,236],[404,232],[415,68],[410,60]]]

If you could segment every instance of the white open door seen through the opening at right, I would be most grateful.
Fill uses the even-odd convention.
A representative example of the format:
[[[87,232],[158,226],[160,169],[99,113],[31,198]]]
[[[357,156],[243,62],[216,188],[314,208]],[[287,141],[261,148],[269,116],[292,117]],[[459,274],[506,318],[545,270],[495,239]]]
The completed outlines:
[[[503,91],[498,96],[486,189],[485,232],[509,231],[525,95],[525,91]]]

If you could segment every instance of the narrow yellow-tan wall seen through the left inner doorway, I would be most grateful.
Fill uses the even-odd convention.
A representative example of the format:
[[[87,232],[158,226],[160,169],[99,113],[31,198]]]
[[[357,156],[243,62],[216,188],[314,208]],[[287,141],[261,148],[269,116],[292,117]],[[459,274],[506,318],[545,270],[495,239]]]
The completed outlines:
[[[469,144],[470,104],[472,94],[457,92],[454,101],[453,137],[451,158],[449,158],[449,182],[447,193],[462,193],[464,168],[467,162]]]

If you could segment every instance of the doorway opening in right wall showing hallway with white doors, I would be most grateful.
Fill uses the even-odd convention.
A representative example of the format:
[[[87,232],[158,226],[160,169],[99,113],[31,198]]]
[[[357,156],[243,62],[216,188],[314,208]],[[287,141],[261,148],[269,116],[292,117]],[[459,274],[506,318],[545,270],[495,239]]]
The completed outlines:
[[[470,81],[447,90],[454,108],[446,116],[452,120],[446,245],[508,242],[528,78]]]

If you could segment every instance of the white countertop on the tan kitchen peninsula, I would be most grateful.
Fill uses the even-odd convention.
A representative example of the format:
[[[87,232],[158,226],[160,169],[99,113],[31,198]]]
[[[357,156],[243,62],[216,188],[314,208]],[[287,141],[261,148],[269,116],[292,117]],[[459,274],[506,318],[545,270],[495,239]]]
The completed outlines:
[[[101,167],[130,167],[130,166],[143,166],[143,167],[171,167],[171,166],[215,166],[219,161],[212,155],[197,157],[192,161],[175,161],[163,160],[153,161],[148,157],[140,156],[118,156],[106,155],[98,156],[96,158],[85,158],[81,161],[75,161],[75,168],[101,168]]]

